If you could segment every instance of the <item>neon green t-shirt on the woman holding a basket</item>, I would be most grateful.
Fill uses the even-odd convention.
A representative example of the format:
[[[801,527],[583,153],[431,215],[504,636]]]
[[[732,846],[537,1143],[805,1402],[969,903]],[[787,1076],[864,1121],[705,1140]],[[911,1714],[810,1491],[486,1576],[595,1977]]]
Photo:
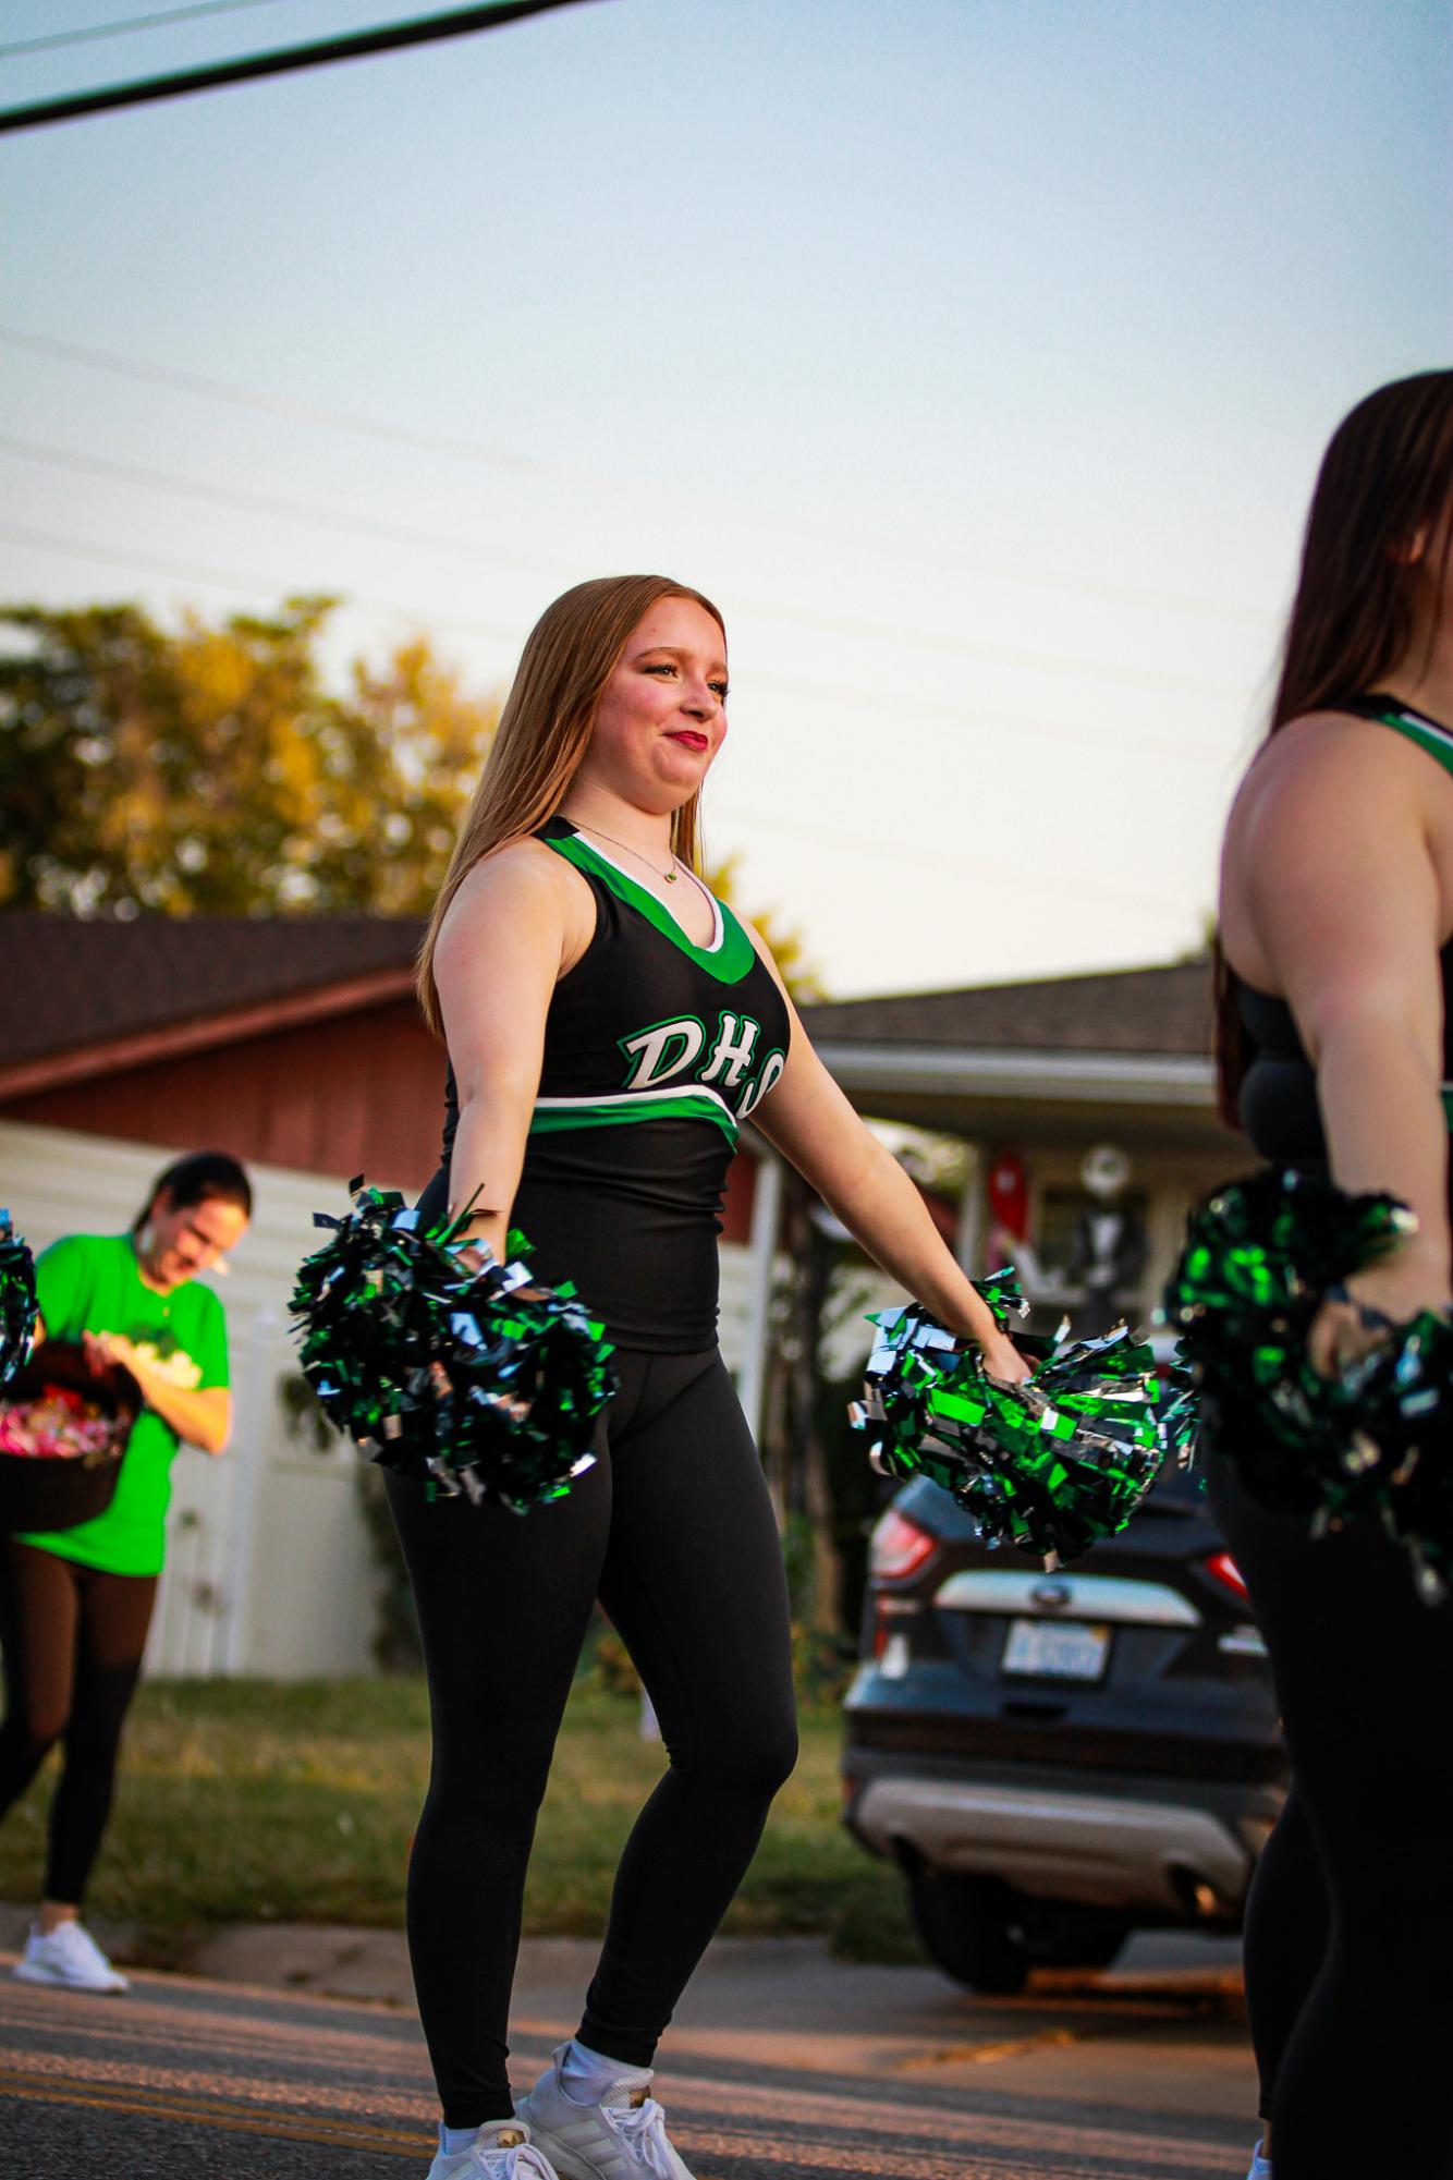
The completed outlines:
[[[170,1295],[146,1286],[131,1234],[68,1234],[35,1260],[35,1293],[52,1341],[120,1332],[170,1367],[176,1384],[227,1384],[227,1321],[209,1286],[183,1280]],[[115,1498],[94,1522],[26,1535],[59,1559],[105,1574],[161,1574],[176,1432],[155,1408],[135,1419]]]

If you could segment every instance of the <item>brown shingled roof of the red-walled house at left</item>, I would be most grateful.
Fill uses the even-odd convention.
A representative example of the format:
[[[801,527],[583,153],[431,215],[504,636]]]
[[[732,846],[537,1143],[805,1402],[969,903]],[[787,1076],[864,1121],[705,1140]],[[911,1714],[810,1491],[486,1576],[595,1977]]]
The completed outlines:
[[[383,916],[0,916],[0,1068],[340,988],[405,992],[420,937]]]

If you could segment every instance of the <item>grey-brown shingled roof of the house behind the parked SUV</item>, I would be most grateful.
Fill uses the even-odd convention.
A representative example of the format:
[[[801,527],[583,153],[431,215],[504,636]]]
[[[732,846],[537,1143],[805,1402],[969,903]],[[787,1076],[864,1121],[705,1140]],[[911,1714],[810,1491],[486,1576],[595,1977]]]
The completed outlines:
[[[961,992],[893,992],[804,1007],[802,1020],[815,1044],[834,1046],[1205,1057],[1211,1051],[1211,970],[1207,961],[1176,961]]]

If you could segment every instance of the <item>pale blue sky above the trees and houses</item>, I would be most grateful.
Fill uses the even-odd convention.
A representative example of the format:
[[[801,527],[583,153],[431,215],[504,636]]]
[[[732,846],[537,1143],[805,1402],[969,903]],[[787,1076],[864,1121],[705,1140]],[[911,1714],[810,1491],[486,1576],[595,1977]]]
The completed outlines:
[[[708,844],[834,992],[1165,959],[1327,434],[1453,360],[1451,87],[1446,0],[597,0],[9,137],[4,327],[279,408],[0,342],[0,597],[342,591],[340,656],[420,626],[494,687],[664,569],[732,637]]]

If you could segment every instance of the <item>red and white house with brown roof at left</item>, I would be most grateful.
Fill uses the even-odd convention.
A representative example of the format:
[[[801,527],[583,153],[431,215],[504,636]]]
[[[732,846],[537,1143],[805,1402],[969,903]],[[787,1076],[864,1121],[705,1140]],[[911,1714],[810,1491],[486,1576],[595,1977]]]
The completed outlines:
[[[423,924],[386,918],[0,918],[0,1206],[35,1249],[122,1232],[179,1151],[242,1158],[255,1216],[218,1286],[224,1461],[183,1452],[152,1672],[329,1674],[373,1661],[357,1456],[296,1428],[288,1299],[346,1184],[418,1192],[444,1055],[414,1003]],[[745,1151],[723,1216],[723,1352],[760,1404],[776,1168]]]

